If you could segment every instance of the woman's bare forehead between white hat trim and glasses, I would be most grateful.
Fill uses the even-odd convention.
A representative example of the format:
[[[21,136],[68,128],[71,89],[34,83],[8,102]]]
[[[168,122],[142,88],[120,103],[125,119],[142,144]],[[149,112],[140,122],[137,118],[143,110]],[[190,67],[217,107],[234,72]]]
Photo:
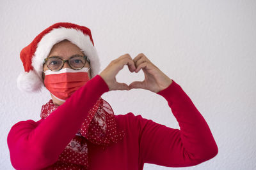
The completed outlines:
[[[71,57],[72,55],[84,55],[84,53],[77,45],[65,39],[52,46],[51,52],[49,53],[48,57],[59,56],[67,58]]]

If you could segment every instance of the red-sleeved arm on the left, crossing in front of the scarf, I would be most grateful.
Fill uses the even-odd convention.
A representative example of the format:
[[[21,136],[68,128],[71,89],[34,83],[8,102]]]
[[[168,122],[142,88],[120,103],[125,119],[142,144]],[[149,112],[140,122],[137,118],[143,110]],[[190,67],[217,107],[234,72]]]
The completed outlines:
[[[13,125],[7,138],[13,167],[42,169],[56,162],[83,124],[88,111],[108,90],[108,85],[97,75],[45,120],[27,120]]]

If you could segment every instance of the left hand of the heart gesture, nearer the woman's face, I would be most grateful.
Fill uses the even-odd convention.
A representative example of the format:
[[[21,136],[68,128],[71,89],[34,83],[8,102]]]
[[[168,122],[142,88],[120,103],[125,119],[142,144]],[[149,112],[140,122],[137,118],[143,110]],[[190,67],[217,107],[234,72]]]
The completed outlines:
[[[115,60],[112,60],[109,65],[99,74],[107,83],[109,91],[111,90],[129,90],[129,86],[125,83],[118,83],[116,81],[116,74],[124,68],[124,65],[129,67],[131,72],[136,70],[134,61],[131,56],[126,53]]]

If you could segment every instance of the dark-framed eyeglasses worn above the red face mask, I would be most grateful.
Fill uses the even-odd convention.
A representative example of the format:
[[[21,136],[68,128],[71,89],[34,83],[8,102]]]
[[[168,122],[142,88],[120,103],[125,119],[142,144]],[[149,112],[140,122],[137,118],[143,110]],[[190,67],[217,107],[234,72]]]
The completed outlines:
[[[53,57],[49,57],[47,59],[44,59],[43,65],[46,63],[47,67],[49,69],[51,69],[51,71],[59,71],[60,69],[62,69],[65,62],[68,62],[68,65],[72,69],[77,70],[77,69],[82,69],[85,66],[86,60],[90,64],[90,60],[85,55],[84,56],[74,55],[74,56],[70,57],[68,60],[63,60],[60,57],[53,56]]]

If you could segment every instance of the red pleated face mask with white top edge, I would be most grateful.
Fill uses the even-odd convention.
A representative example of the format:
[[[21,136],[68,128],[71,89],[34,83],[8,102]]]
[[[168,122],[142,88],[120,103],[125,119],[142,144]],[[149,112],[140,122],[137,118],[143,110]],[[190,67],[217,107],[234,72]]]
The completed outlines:
[[[64,68],[60,71],[45,71],[45,87],[60,101],[66,101],[77,89],[89,81],[88,68],[74,70]]]

